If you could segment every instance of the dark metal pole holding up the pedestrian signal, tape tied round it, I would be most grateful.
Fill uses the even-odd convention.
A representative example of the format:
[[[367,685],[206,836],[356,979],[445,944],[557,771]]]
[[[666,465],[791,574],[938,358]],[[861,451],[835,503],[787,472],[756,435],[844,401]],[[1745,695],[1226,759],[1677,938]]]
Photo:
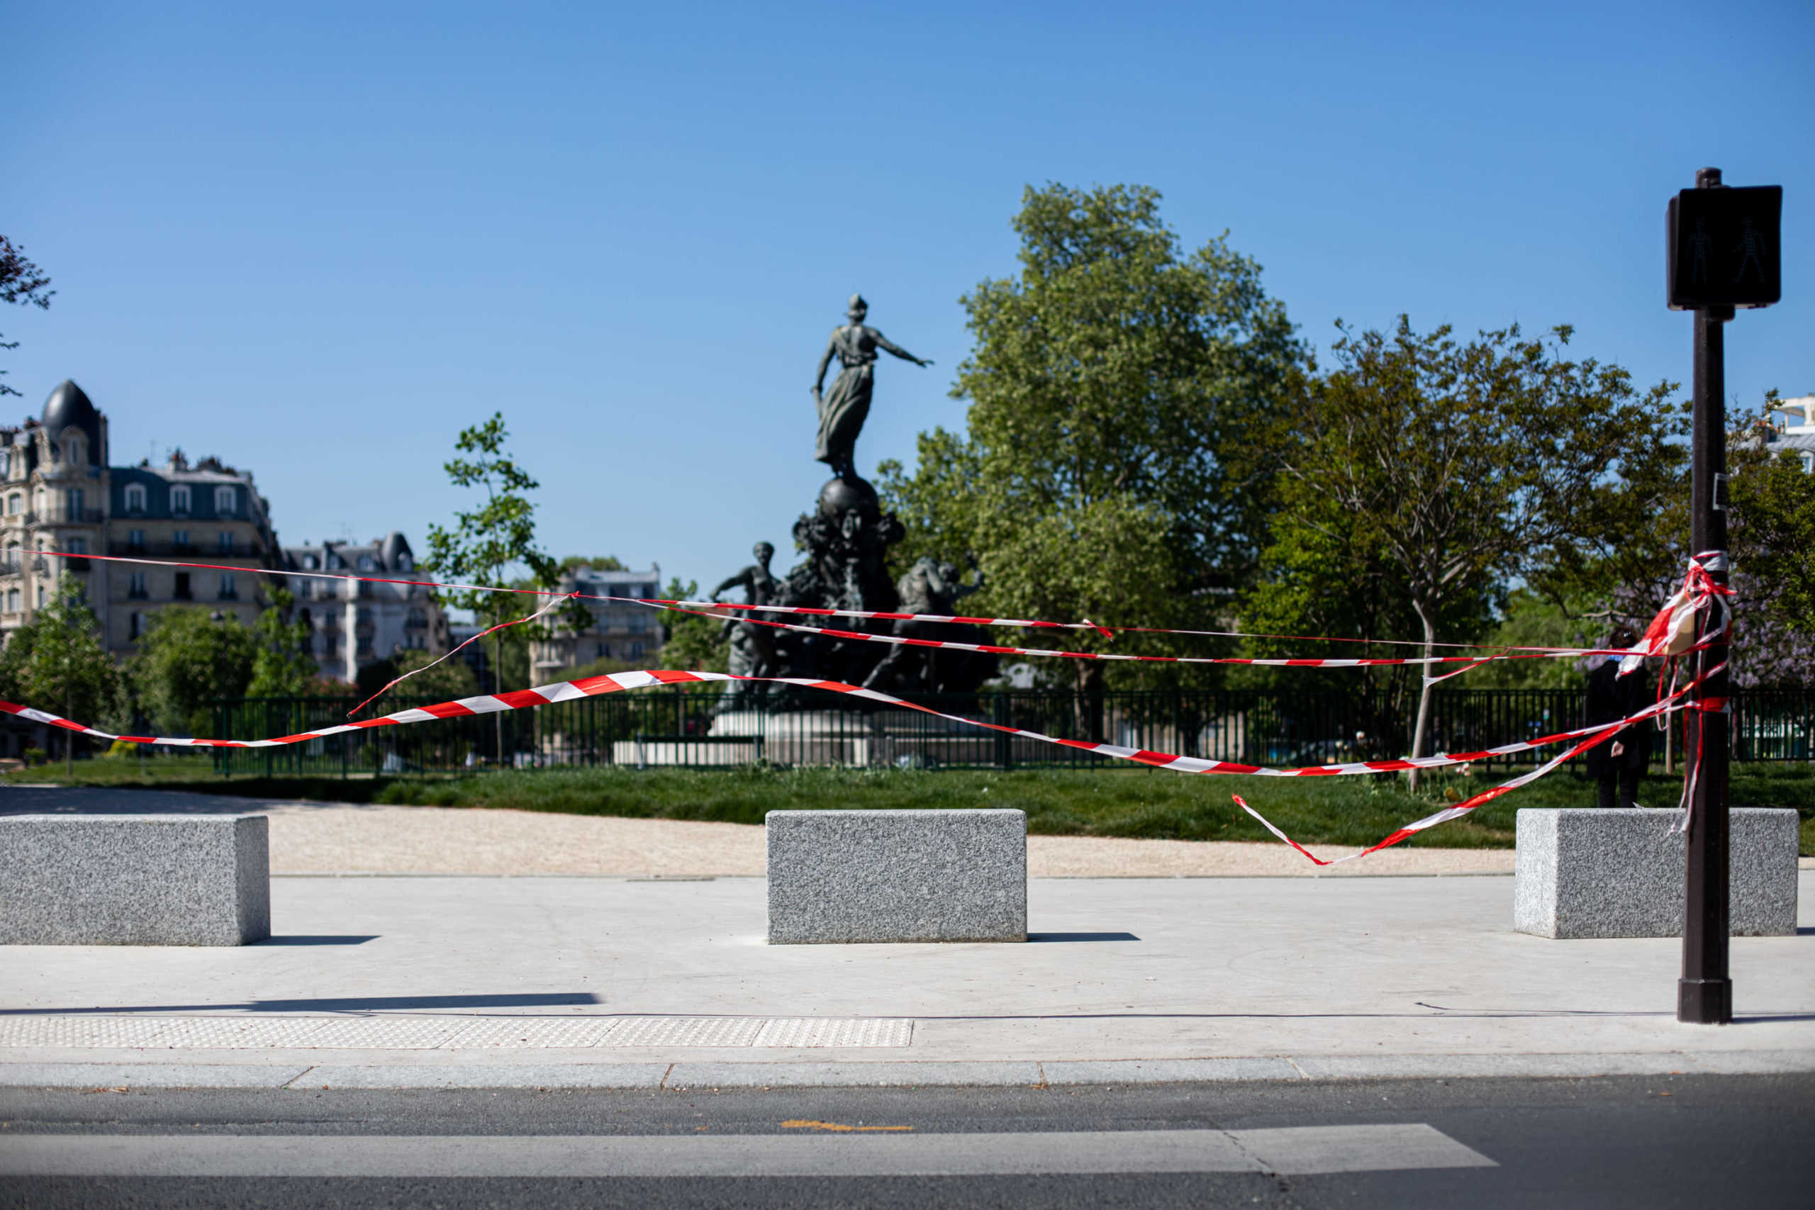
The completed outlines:
[[[1721,169],[1695,174],[1697,189],[1721,189]],[[1732,307],[1695,312],[1693,486],[1690,488],[1690,553],[1722,551],[1708,568],[1726,584],[1726,321]],[[1713,613],[1702,615],[1704,626]],[[1728,642],[1697,653],[1699,669],[1726,664]],[[1683,918],[1683,978],[1677,980],[1677,1020],[1728,1025],[1733,1020],[1733,980],[1728,978],[1728,675],[1719,671],[1697,689],[1688,709],[1684,771],[1690,796],[1688,900]]]

